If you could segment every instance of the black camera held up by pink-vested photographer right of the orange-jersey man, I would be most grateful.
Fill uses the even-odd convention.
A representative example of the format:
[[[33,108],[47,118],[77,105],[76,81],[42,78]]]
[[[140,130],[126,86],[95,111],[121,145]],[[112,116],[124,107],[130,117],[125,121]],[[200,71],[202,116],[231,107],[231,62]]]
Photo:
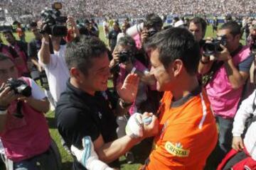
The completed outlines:
[[[227,45],[227,38],[225,35],[219,36],[210,42],[205,42],[203,45],[203,55],[210,57],[210,55],[214,55],[216,52],[221,52],[223,49],[220,45]]]

